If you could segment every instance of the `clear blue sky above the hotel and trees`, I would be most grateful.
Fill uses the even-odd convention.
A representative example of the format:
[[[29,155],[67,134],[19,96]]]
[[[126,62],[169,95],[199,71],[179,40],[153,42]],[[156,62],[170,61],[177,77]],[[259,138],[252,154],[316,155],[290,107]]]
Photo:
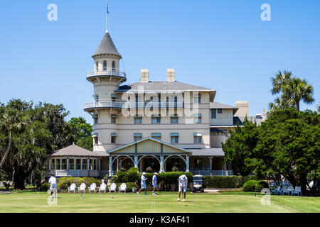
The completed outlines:
[[[48,21],[48,4],[58,21]],[[272,21],[261,21],[262,4]],[[250,101],[250,115],[274,99],[270,78],[291,70],[314,86],[320,101],[320,1],[110,0],[110,34],[122,54],[127,83],[148,68],[154,81],[216,89],[215,101]],[[105,0],[0,1],[0,102],[20,98],[63,104],[70,116],[90,115],[85,79],[105,33]]]

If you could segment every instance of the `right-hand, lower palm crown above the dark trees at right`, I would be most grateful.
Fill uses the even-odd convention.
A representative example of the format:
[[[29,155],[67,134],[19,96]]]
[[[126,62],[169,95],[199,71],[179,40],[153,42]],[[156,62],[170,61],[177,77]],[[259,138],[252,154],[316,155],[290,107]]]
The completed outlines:
[[[283,98],[288,101],[290,105],[295,105],[297,110],[300,111],[300,101],[306,104],[313,104],[314,88],[311,84],[306,82],[306,79],[294,77],[290,79],[289,83],[283,88]]]

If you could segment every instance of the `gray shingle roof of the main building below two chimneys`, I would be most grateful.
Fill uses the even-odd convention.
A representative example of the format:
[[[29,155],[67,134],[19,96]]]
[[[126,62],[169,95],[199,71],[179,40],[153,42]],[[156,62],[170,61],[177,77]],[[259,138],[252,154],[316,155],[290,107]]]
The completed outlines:
[[[181,82],[137,82],[134,84],[128,84],[119,87],[115,92],[137,92],[138,87],[144,87],[144,91],[214,91],[213,89],[208,89],[205,87],[199,87],[192,84],[185,84]]]

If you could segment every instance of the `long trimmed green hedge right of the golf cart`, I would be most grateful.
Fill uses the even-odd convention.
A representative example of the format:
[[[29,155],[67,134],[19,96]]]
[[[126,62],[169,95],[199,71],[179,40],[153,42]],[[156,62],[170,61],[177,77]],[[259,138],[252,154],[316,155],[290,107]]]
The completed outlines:
[[[215,188],[240,188],[250,179],[257,179],[256,176],[203,176],[203,186]]]

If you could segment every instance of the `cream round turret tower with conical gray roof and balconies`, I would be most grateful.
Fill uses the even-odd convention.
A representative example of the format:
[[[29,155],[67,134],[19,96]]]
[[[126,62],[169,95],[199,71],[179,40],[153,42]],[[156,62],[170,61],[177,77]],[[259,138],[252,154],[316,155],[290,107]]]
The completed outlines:
[[[117,117],[121,114],[122,101],[121,94],[115,91],[127,80],[119,67],[122,56],[108,30],[92,58],[94,68],[87,72],[87,80],[94,87],[93,100],[85,104],[85,111],[94,118],[93,150],[106,151],[117,147]],[[108,129],[102,130],[102,125]]]

